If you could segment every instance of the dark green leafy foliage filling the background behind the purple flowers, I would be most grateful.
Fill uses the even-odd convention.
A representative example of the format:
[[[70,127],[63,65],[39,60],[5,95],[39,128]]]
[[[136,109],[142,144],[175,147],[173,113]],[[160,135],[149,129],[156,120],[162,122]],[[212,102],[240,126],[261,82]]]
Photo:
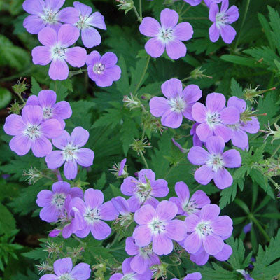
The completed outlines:
[[[33,155],[19,157],[10,151],[10,137],[4,134],[2,125],[8,116],[7,106],[17,99],[11,86],[18,78],[26,77],[30,88],[29,94],[38,94],[46,88],[57,92],[58,99],[66,99],[71,103],[73,116],[66,120],[66,129],[71,131],[75,126],[82,126],[90,131],[87,144],[95,153],[94,165],[86,172],[80,170],[77,180],[87,181],[89,186],[104,191],[106,200],[120,195],[120,180],[114,179],[109,169],[113,162],[127,157],[130,174],[144,168],[141,158],[132,151],[130,144],[134,139],[141,138],[143,121],[146,116],[141,109],[130,111],[123,106],[123,96],[137,94],[160,95],[160,85],[170,78],[184,79],[190,72],[201,66],[204,74],[213,78],[194,80],[190,78],[186,85],[195,83],[200,86],[205,98],[209,92],[222,92],[227,97],[241,97],[244,89],[260,90],[276,87],[276,90],[266,92],[258,98],[254,108],[260,116],[260,127],[265,130],[268,121],[272,125],[279,119],[280,85],[280,3],[278,0],[230,0],[230,5],[239,7],[240,18],[235,23],[237,37],[231,45],[221,41],[211,43],[208,29],[211,25],[207,19],[207,8],[200,5],[190,8],[183,17],[195,18],[188,21],[193,25],[195,34],[186,43],[188,54],[179,61],[172,61],[167,56],[151,59],[148,71],[143,75],[147,65],[147,55],[144,52],[145,38],[139,33],[139,22],[130,11],[125,15],[118,10],[114,1],[83,0],[89,6],[99,10],[106,20],[107,30],[100,31],[102,44],[94,50],[99,52],[113,51],[118,55],[118,65],[123,73],[122,78],[112,87],[97,87],[87,78],[87,73],[73,76],[64,82],[53,82],[48,78],[48,67],[34,65],[31,62],[31,50],[39,45],[37,37],[28,34],[22,27],[22,21],[27,14],[22,10],[22,0],[0,0],[0,279],[38,279],[37,270],[41,258],[47,253],[41,250],[38,239],[47,241],[47,232],[51,225],[38,218],[39,209],[36,206],[36,195],[50,183],[41,179],[29,186],[22,176],[23,170],[30,167],[45,169],[45,162]],[[66,0],[64,6],[71,6],[71,0]],[[172,8],[181,10],[183,1],[176,1]],[[138,3],[135,3],[137,6]],[[165,5],[166,6],[166,5]],[[143,0],[144,16],[159,18],[160,11],[165,8],[162,0]],[[182,11],[188,5],[183,6]],[[81,45],[81,42],[78,44]],[[148,101],[141,99],[146,109]],[[248,104],[250,104],[248,102]],[[147,120],[146,120],[147,121]],[[192,191],[202,189],[211,195],[211,201],[223,208],[223,214],[234,220],[233,235],[229,244],[234,248],[234,254],[229,263],[215,263],[199,268],[205,279],[241,279],[237,269],[246,269],[251,261],[251,255],[257,257],[255,268],[251,272],[254,279],[272,279],[280,272],[280,232],[279,200],[276,198],[279,179],[279,162],[275,155],[276,174],[268,170],[268,162],[280,140],[271,143],[271,137],[264,142],[259,132],[251,135],[251,149],[248,153],[241,152],[243,166],[234,171],[235,183],[220,192],[212,184],[198,186],[193,179],[195,167],[190,165],[183,154],[171,141],[178,139],[184,148],[192,146],[189,135],[190,123],[179,130],[164,130],[162,135],[146,127],[145,134],[152,148],[146,149],[148,165],[157,174],[157,178],[167,179],[169,196],[174,195],[176,181],[185,181]],[[270,173],[269,173],[270,172]],[[273,176],[272,176],[273,175]],[[276,176],[274,176],[276,175]],[[85,186],[87,188],[88,186]],[[251,232],[244,234],[247,223],[253,223]],[[277,235],[278,232],[278,235]],[[274,237],[274,239],[272,239]],[[111,239],[104,241],[109,244]],[[41,240],[42,241],[42,240]],[[59,241],[59,240],[57,240]],[[60,240],[61,241],[61,240]],[[67,243],[68,242],[68,243]],[[100,258],[114,262],[116,258],[123,260],[125,253],[116,247],[115,251],[100,249],[100,241],[90,239],[92,252],[84,255],[85,260],[94,265]],[[120,241],[118,247],[122,247]],[[268,246],[265,248],[264,246]],[[76,246],[69,239],[66,246]],[[43,247],[43,245],[42,245]],[[115,247],[113,247],[115,248]],[[264,251],[265,250],[265,251]],[[98,257],[98,258],[97,258]],[[214,261],[211,260],[211,261]],[[197,271],[189,260],[183,262],[188,271]],[[182,269],[182,268],[181,268]],[[183,270],[181,270],[183,275]],[[109,272],[105,273],[109,279]],[[220,278],[218,278],[220,277]],[[280,279],[280,275],[278,275]]]

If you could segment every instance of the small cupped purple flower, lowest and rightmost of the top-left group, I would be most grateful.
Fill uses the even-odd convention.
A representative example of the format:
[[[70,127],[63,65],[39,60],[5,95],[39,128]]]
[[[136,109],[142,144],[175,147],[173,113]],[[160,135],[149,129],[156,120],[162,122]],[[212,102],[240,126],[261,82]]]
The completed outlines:
[[[109,87],[120,79],[120,67],[116,65],[118,57],[113,52],[106,52],[102,57],[94,50],[87,55],[88,76],[99,86]]]

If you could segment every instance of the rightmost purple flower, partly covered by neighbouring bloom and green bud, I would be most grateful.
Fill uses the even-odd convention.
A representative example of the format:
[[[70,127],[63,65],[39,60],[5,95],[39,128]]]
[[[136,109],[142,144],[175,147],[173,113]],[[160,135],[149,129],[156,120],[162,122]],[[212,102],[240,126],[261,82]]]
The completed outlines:
[[[230,97],[228,99],[228,106],[235,107],[240,114],[246,111],[247,104],[243,99],[238,97]],[[234,125],[228,125],[232,130],[232,144],[237,146],[238,148],[245,149],[248,148],[248,135],[246,132],[255,134],[260,130],[260,123],[258,122],[258,118],[251,117],[251,120],[248,120],[246,124],[239,120],[238,123]]]

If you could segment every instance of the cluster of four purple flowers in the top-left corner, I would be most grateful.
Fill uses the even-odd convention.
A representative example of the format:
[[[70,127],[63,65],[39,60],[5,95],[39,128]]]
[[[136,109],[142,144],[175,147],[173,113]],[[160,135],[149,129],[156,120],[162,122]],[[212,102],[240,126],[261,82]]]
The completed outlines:
[[[106,52],[100,57],[93,51],[87,55],[85,48],[99,45],[102,38],[97,31],[105,29],[104,16],[92,13],[92,8],[78,1],[74,7],[59,10],[62,1],[25,0],[23,8],[31,15],[25,18],[24,27],[31,34],[38,34],[41,46],[32,50],[34,64],[50,64],[48,74],[52,80],[65,80],[69,76],[68,62],[73,67],[87,64],[88,76],[100,87],[108,87],[120,79],[120,67],[113,52]],[[80,37],[85,48],[71,47]]]

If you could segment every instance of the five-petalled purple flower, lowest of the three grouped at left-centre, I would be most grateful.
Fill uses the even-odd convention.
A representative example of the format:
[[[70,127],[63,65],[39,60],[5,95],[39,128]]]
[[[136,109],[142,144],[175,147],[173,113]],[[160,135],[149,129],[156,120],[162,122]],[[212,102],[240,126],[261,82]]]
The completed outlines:
[[[61,151],[52,151],[45,157],[48,168],[55,169],[61,167],[64,162],[64,175],[66,179],[75,179],[78,172],[78,165],[90,167],[93,163],[94,152],[89,148],[83,147],[88,140],[90,134],[83,127],[75,127],[71,136],[66,130],[62,130],[62,134],[52,139],[52,144]]]

